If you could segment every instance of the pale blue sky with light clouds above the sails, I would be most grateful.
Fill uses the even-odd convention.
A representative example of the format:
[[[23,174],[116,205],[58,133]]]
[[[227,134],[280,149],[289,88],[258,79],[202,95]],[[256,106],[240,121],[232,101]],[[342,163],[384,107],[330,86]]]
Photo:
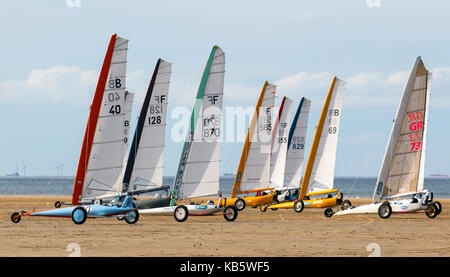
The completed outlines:
[[[112,34],[129,39],[136,118],[158,58],[173,63],[164,175],[182,142],[176,110],[192,108],[213,45],[226,57],[224,110],[254,107],[265,80],[312,100],[307,149],[333,76],[346,81],[336,176],[377,176],[417,56],[433,71],[425,175],[450,174],[448,1],[8,1],[0,9],[0,176],[75,175],[89,106]],[[248,122],[247,122],[248,124]],[[243,124],[246,125],[246,124]],[[132,125],[133,126],[133,125]],[[243,130],[237,130],[245,133]],[[184,135],[183,135],[184,137]],[[221,146],[235,172],[243,135]],[[308,151],[306,152],[306,157]]]

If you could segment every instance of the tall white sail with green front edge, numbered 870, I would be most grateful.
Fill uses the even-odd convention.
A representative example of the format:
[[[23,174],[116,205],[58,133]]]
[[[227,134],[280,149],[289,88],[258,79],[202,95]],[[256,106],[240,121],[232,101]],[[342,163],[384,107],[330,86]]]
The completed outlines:
[[[194,100],[171,206],[176,199],[215,195],[219,191],[224,77],[225,53],[214,46]]]

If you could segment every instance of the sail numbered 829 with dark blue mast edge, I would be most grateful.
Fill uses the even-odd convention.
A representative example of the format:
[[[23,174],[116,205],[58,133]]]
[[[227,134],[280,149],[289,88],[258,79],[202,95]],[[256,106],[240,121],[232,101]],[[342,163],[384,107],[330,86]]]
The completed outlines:
[[[305,156],[306,131],[311,101],[302,98],[289,131],[284,187],[299,187]]]

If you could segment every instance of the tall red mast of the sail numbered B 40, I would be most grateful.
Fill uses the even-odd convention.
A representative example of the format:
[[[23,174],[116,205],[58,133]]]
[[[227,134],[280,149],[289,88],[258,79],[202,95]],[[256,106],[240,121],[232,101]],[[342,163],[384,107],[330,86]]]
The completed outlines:
[[[102,69],[97,82],[97,88],[95,89],[94,99],[92,100],[91,108],[89,111],[89,118],[84,132],[83,144],[81,147],[80,158],[78,159],[77,173],[73,185],[72,192],[72,205],[78,204],[80,199],[84,179],[86,175],[87,163],[89,155],[91,153],[92,142],[94,140],[94,134],[97,127],[98,115],[100,113],[101,103],[103,99],[103,93],[105,91],[106,80],[108,78],[109,68],[111,66],[111,60],[114,51],[114,45],[116,43],[117,34],[111,36],[108,49],[106,51],[105,58],[103,60]]]

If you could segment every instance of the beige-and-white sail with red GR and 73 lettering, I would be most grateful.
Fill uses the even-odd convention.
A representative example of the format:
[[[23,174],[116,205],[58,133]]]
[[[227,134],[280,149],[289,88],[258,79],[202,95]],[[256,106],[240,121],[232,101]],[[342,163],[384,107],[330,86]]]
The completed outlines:
[[[423,190],[431,72],[418,57],[398,106],[373,201]]]

